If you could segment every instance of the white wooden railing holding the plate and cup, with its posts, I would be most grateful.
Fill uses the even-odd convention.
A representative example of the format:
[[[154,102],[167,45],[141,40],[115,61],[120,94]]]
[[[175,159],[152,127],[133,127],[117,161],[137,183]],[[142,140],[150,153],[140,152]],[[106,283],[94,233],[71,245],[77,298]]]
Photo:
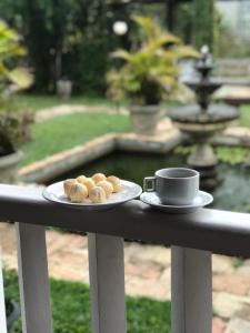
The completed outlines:
[[[136,200],[112,210],[86,211],[48,202],[41,190],[0,185],[0,219],[18,221],[23,333],[53,331],[44,226],[88,233],[93,333],[127,332],[124,238],[171,245],[172,333],[211,333],[212,252],[250,256],[250,214],[209,209],[166,214]],[[7,332],[3,314],[0,270],[1,333]]]

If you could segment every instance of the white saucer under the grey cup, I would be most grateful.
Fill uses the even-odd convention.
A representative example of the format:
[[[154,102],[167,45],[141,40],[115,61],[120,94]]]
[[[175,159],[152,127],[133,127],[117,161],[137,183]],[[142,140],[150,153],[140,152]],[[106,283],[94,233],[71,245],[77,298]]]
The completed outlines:
[[[143,201],[147,204],[150,204],[151,206],[164,211],[167,213],[172,214],[186,214],[191,213],[199,208],[202,208],[207,204],[210,204],[213,201],[213,198],[211,194],[199,191],[198,195],[193,200],[191,204],[188,205],[168,205],[162,204],[160,202],[160,199],[157,196],[156,192],[143,192],[140,196],[140,200]]]

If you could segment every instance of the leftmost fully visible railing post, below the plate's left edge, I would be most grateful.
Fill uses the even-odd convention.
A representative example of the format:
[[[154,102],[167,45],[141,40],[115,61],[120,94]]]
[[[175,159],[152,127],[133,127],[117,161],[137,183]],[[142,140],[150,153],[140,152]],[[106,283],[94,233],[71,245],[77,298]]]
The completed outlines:
[[[23,333],[52,333],[44,226],[17,224]]]

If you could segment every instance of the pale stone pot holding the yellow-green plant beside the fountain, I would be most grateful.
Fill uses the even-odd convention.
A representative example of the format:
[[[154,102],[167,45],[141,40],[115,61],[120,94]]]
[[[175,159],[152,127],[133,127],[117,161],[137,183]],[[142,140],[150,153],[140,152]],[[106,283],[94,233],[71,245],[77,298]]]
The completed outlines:
[[[156,135],[161,112],[160,105],[131,105],[132,131],[141,135]]]

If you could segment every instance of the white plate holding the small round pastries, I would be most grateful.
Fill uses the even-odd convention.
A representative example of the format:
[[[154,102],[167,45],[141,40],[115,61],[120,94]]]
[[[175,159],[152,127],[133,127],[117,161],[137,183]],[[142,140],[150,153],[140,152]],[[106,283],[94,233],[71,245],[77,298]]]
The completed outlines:
[[[136,199],[140,196],[142,192],[141,186],[129,181],[121,180],[121,186],[122,190],[120,192],[111,194],[109,199],[103,203],[91,203],[91,201],[88,199],[84,203],[70,202],[64,195],[63,181],[47,186],[43,190],[42,195],[49,201],[71,205],[72,208],[103,210]]]

